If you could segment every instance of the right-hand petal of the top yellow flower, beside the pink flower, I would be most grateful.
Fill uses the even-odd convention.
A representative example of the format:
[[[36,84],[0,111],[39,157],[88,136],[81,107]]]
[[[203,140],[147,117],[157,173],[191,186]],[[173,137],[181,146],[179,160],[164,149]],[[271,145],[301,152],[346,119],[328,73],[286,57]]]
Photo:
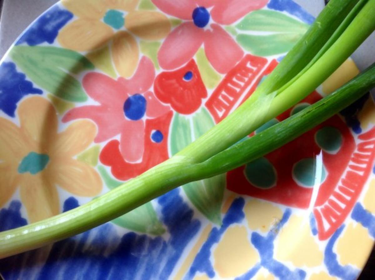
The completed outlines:
[[[171,22],[159,12],[130,12],[125,19],[125,27],[145,40],[160,40],[171,31]]]

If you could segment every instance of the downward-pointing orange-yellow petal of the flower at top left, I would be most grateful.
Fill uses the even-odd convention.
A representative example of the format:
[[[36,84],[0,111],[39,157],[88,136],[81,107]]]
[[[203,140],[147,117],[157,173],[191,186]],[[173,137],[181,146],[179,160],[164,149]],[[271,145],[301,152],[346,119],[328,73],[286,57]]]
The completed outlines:
[[[133,75],[139,59],[139,48],[134,37],[120,31],[113,38],[112,59],[120,76],[129,78]]]

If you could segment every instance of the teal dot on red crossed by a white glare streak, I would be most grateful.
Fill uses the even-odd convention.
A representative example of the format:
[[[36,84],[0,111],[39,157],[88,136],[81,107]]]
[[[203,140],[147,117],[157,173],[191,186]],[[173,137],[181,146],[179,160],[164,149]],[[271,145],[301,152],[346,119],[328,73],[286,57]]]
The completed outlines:
[[[316,172],[316,160],[312,157],[302,159],[293,166],[293,179],[301,187],[313,187],[315,182]],[[322,166],[322,177],[321,183],[326,180],[327,172],[324,166]]]

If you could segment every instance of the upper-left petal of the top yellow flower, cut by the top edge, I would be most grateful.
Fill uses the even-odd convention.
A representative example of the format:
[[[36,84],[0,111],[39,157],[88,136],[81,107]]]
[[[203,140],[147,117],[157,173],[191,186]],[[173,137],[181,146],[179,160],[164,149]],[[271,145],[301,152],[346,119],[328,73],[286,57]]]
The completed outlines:
[[[107,11],[105,0],[62,0],[62,3],[80,18],[101,19]]]

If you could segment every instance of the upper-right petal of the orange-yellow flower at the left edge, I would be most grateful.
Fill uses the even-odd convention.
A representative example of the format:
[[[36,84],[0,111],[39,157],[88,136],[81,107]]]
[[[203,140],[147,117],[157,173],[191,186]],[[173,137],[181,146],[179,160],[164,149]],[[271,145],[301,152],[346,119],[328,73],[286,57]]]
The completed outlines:
[[[96,125],[92,121],[75,121],[64,132],[58,133],[55,141],[50,143],[50,155],[52,159],[55,156],[75,156],[89,147],[95,136]]]

